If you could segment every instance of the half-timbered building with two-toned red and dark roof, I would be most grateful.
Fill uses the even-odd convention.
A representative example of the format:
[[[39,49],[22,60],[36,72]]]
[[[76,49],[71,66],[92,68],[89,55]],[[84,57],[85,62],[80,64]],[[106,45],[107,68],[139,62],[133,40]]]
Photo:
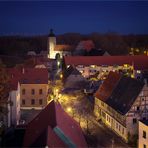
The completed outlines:
[[[148,119],[148,86],[140,80],[110,72],[95,93],[97,119],[126,142],[138,134],[138,120]]]

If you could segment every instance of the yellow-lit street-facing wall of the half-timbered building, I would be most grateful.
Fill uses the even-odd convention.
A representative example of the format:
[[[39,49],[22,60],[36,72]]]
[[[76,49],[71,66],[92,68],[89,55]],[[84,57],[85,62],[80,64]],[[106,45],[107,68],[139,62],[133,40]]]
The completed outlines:
[[[120,115],[101,100],[95,98],[94,114],[103,123],[128,142],[128,132],[125,124],[125,116]]]

